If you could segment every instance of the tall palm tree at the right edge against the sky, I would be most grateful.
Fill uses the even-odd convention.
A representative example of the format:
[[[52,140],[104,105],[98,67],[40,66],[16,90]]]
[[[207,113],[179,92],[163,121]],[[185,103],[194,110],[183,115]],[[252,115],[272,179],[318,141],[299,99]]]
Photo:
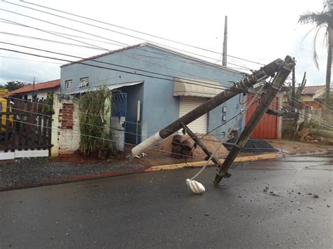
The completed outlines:
[[[315,50],[315,43],[317,41],[318,32],[320,29],[325,28],[325,41],[327,44],[327,67],[326,67],[326,90],[325,90],[325,103],[329,104],[329,91],[331,85],[331,71],[332,71],[332,47],[333,47],[333,0],[327,0],[324,6],[324,11],[321,12],[307,12],[299,16],[299,23],[301,24],[314,24],[315,36],[313,39],[313,60],[315,67],[319,69],[318,54]],[[312,29],[311,29],[312,30]]]

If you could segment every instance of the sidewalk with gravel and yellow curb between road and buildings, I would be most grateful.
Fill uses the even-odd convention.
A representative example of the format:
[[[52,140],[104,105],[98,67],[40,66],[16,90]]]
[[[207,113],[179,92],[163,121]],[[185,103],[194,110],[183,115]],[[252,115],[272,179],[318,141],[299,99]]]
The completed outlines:
[[[245,154],[241,153],[235,163],[274,159],[290,155],[332,154],[332,147],[315,144],[297,143],[287,140],[269,140],[280,153]],[[281,149],[282,148],[282,149]],[[332,149],[332,150],[330,150]],[[78,158],[75,156],[65,159],[16,159],[0,163],[0,191],[39,187],[82,180],[93,180],[134,173],[149,173],[159,170],[174,170],[179,168],[202,167],[206,161],[195,159],[173,159],[170,154],[152,154],[148,159],[133,159],[127,161],[124,156],[117,159],[98,161]],[[169,162],[159,164],[160,162]],[[223,163],[223,159],[220,159]],[[154,163],[153,165],[151,165]],[[212,162],[209,166],[214,166]]]

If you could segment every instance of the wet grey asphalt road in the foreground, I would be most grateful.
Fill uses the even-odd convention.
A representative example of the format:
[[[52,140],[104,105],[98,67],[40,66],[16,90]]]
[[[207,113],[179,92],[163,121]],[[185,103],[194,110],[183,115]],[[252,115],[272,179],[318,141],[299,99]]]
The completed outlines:
[[[0,248],[333,248],[332,158],[197,170],[0,192]]]

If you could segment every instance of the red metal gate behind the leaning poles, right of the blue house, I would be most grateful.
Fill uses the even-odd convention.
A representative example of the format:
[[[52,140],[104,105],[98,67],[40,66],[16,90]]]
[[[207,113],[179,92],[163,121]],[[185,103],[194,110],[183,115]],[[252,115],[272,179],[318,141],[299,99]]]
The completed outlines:
[[[253,96],[247,95],[247,105],[251,102]],[[254,102],[252,106],[247,109],[246,113],[246,123],[249,122],[252,114],[258,107],[259,103]],[[275,97],[272,104],[270,104],[270,109],[278,109],[279,107],[279,97]],[[275,139],[278,138],[278,116],[264,114],[261,121],[256,126],[256,129],[252,133],[253,138],[268,138]]]

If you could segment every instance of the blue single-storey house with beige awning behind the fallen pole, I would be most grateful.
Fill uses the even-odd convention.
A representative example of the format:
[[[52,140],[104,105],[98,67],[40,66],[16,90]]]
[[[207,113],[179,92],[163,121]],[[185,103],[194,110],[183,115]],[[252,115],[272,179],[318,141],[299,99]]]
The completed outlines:
[[[60,91],[63,96],[79,95],[102,85],[121,90],[122,94],[115,96],[112,105],[111,127],[114,127],[114,139],[119,141],[118,147],[122,150],[123,142],[138,144],[220,93],[223,86],[230,87],[233,81],[243,77],[244,73],[235,69],[141,43],[61,66]],[[70,103],[69,97],[63,99],[67,105]],[[242,96],[237,95],[193,121],[189,127],[195,133],[207,133],[239,114],[240,100]],[[76,107],[73,108],[75,113]],[[212,134],[221,140],[234,122],[226,123]],[[73,145],[67,149],[74,148]]]

